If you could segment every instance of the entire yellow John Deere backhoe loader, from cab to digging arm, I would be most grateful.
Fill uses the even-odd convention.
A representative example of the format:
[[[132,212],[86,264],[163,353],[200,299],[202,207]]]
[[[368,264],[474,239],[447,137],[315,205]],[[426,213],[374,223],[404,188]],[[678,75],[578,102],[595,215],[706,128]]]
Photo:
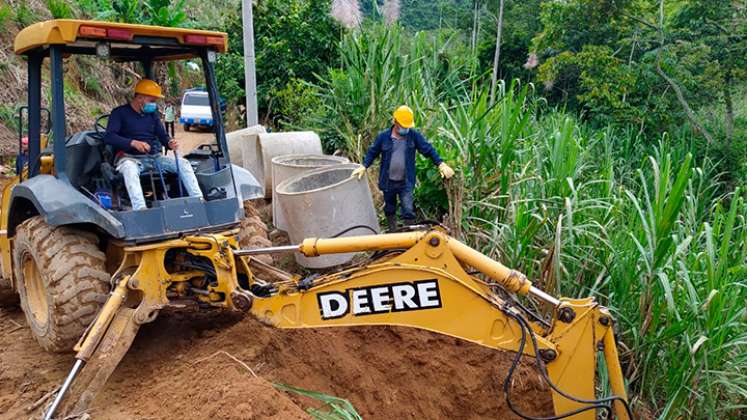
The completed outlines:
[[[18,293],[42,346],[66,350],[74,344],[77,352],[46,419],[85,412],[140,326],[183,300],[251,313],[278,328],[399,325],[450,335],[516,354],[504,395],[523,418],[533,417],[514,408],[510,389],[522,356],[532,358],[552,390],[552,418],[591,420],[604,412],[631,418],[609,311],[592,298],[558,299],[543,292],[442,227],[310,238],[280,247],[266,239],[247,241],[256,216],[243,217],[238,203],[251,183],[237,186],[238,169],[227,163],[212,67],[225,48],[223,33],[74,20],[35,24],[16,38],[16,52],[29,62],[30,155],[28,168],[3,191],[0,286]],[[193,202],[176,193],[178,179],[161,174],[162,188],[146,195],[149,208],[130,210],[116,173],[109,173],[99,130],[66,137],[62,68],[72,54],[139,61],[146,75],[153,61],[201,59],[217,146],[190,160],[206,193],[228,192]],[[40,118],[41,64],[47,57],[51,137],[42,134]],[[147,179],[143,183],[147,187]],[[100,200],[101,192],[115,204]],[[257,267],[273,270],[263,258],[281,252],[373,255],[332,274],[262,279]],[[552,318],[532,315],[515,296],[548,305]],[[609,384],[597,384],[598,360]],[[597,395],[607,389],[609,396]]]

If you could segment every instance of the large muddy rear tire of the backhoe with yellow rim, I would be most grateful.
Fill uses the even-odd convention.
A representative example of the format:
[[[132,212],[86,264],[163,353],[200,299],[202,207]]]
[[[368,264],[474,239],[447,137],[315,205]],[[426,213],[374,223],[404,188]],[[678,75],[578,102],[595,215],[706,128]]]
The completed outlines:
[[[36,341],[48,351],[71,351],[110,289],[96,236],[33,217],[17,229],[13,266]]]

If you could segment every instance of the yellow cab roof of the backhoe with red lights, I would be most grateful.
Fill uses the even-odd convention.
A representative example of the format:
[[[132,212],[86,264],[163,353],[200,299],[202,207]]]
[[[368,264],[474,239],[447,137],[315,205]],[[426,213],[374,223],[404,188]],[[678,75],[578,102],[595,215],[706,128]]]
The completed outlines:
[[[14,49],[25,55],[50,45],[63,45],[63,53],[90,55],[97,53],[97,45],[104,45],[116,61],[184,60],[198,58],[199,50],[206,47],[225,52],[228,36],[195,29],[57,19],[24,28],[16,35]]]

